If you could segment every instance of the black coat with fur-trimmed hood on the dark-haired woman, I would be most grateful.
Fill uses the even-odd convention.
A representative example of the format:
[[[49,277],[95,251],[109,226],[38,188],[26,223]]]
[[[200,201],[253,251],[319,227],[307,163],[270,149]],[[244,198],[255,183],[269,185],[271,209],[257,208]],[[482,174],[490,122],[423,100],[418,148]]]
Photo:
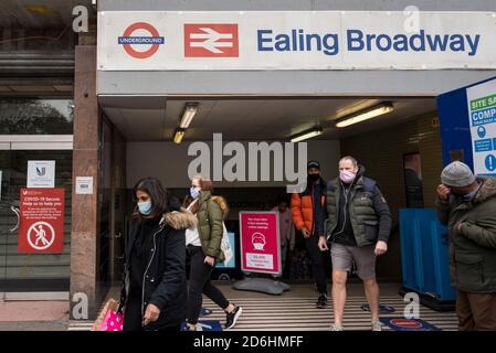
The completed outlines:
[[[149,249],[148,266],[141,288],[141,315],[146,306],[152,303],[160,309],[160,317],[150,324],[150,330],[179,324],[186,319],[186,239],[184,229],[196,226],[197,218],[184,208],[163,214]],[[129,231],[126,245],[126,265],[123,276],[120,303],[126,306],[129,297],[129,258],[133,245],[139,234],[139,222]]]

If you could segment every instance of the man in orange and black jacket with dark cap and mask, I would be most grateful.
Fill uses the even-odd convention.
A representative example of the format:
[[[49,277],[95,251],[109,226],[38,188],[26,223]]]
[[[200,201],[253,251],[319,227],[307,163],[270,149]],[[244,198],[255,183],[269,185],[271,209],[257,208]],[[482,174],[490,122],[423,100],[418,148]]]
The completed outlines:
[[[323,253],[318,247],[320,215],[325,212],[326,183],[320,176],[320,164],[308,162],[307,186],[303,193],[295,193],[291,201],[293,223],[302,232],[312,259],[314,278],[319,292],[317,308],[327,306],[327,278]]]

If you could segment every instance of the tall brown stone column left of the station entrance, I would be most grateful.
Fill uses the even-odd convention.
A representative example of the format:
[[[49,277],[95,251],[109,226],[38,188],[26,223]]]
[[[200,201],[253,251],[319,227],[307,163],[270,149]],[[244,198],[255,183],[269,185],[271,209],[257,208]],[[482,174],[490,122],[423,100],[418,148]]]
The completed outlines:
[[[92,319],[101,301],[98,288],[98,127],[96,46],[76,45],[74,77],[74,153],[71,232],[71,319],[76,293],[87,296]],[[77,194],[77,176],[93,178],[93,194]],[[77,298],[77,297],[76,297]]]

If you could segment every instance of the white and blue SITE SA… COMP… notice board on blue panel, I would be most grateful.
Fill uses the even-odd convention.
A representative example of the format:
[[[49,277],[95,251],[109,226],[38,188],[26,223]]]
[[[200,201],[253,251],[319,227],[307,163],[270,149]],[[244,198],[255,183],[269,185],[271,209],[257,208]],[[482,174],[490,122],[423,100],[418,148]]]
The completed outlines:
[[[496,79],[467,88],[474,172],[496,176]]]

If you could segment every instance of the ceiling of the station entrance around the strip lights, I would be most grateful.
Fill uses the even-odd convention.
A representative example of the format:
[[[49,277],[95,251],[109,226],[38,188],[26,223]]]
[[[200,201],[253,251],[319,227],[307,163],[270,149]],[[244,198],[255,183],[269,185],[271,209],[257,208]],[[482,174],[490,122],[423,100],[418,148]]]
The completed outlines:
[[[349,128],[335,128],[336,119],[384,99],[365,98],[243,98],[169,99],[165,97],[99,97],[107,117],[129,141],[171,140],[187,101],[198,101],[198,113],[184,140],[212,140],[222,132],[224,140],[287,140],[315,126],[319,139],[335,139],[400,124],[436,110],[434,98],[401,98],[392,101],[394,111]]]

